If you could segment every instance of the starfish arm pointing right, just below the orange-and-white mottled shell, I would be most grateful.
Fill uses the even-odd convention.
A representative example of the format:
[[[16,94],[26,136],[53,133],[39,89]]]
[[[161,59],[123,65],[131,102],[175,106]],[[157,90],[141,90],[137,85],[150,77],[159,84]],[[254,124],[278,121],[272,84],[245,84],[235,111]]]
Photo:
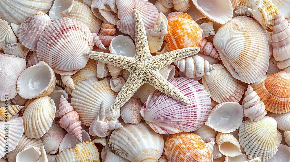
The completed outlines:
[[[155,67],[163,68],[170,65],[172,62],[179,61],[185,57],[197,54],[200,51],[199,47],[187,47],[182,49],[176,49],[164,54],[153,56],[153,61],[150,64],[154,64]]]

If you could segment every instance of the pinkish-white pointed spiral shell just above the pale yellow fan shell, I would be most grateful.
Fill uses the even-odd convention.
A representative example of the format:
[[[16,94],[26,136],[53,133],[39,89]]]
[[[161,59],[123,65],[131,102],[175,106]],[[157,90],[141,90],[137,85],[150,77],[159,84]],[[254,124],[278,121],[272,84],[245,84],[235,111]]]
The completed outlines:
[[[244,114],[251,118],[251,121],[258,121],[267,114],[264,103],[251,86],[248,86],[245,92]]]

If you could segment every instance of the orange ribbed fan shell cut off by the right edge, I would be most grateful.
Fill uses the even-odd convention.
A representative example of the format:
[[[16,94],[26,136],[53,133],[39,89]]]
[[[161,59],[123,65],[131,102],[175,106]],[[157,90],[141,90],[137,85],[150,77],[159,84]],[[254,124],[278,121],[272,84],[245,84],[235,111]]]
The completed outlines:
[[[276,114],[290,111],[290,73],[280,71],[267,77],[265,75],[251,87],[260,96],[267,111]]]

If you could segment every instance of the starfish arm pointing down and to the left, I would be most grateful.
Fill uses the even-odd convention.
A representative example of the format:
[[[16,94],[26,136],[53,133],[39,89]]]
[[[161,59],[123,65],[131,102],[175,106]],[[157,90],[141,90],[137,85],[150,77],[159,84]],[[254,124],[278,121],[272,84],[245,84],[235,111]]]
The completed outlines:
[[[123,106],[144,83],[143,73],[140,71],[136,73],[130,72],[129,78],[125,82],[122,89],[119,91],[115,101],[110,106],[108,113],[113,113],[121,106]]]

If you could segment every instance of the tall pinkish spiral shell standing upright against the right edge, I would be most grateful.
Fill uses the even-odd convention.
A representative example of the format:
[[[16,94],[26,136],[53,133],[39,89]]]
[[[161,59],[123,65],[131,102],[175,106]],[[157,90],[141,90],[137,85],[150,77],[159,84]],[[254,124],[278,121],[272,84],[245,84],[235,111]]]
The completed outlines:
[[[290,72],[290,25],[285,17],[277,12],[273,27],[272,45],[273,56],[278,61],[277,66],[287,73]]]

